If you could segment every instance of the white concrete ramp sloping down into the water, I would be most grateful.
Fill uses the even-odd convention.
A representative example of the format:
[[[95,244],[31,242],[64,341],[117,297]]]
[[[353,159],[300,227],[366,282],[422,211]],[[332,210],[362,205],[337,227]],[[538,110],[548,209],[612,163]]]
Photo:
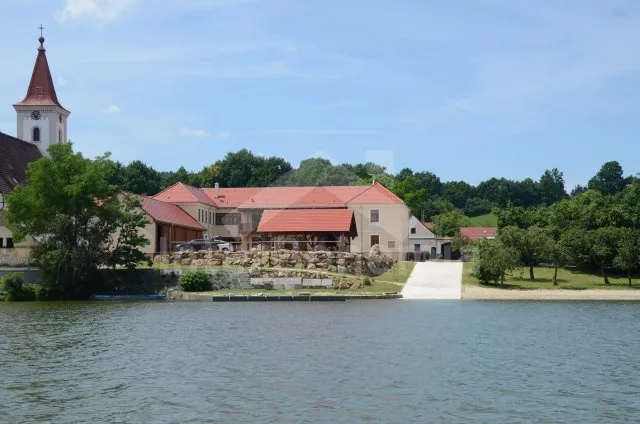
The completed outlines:
[[[402,289],[404,299],[461,299],[462,262],[418,262]]]

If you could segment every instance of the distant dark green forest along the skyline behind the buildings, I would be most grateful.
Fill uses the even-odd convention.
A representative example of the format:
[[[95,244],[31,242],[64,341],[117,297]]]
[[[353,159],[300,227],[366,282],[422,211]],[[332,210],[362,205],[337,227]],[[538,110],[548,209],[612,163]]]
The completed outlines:
[[[247,149],[228,153],[224,159],[200,172],[188,172],[184,167],[176,171],[157,171],[139,160],[128,165],[113,162],[113,166],[112,184],[132,193],[148,195],[177,182],[195,187],[213,187],[216,182],[221,187],[318,186],[371,184],[375,178],[402,198],[412,213],[424,221],[454,210],[476,217],[507,205],[548,206],[587,190],[611,196],[636,179],[625,177],[620,164],[611,161],[602,165],[587,186],[577,186],[570,193],[565,189],[562,171],[556,168],[546,170],[535,180],[494,177],[474,186],[464,181],[443,182],[429,171],[405,168],[392,175],[374,163],[334,165],[322,158],[306,159],[294,169],[282,158],[258,156]]]

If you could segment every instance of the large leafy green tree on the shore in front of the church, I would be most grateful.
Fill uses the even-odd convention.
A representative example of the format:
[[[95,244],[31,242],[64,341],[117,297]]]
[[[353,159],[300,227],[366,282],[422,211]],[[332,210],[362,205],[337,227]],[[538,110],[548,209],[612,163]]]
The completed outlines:
[[[139,203],[121,200],[109,184],[112,162],[74,153],[55,144],[29,166],[28,184],[18,186],[5,211],[16,241],[33,237],[32,255],[42,283],[64,298],[86,298],[99,282],[99,269],[134,266],[148,241],[133,235],[146,222]],[[120,231],[118,231],[120,230]]]

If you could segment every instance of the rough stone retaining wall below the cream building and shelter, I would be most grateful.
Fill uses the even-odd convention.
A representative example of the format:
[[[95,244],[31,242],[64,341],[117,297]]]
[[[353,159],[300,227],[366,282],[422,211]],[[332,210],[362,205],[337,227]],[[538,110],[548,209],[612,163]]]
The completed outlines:
[[[251,249],[242,252],[187,251],[173,255],[157,255],[156,263],[195,267],[242,266],[251,269],[293,268],[341,274],[377,276],[387,272],[396,262],[380,253],[378,246],[369,254],[347,252],[299,252],[293,250]],[[262,273],[262,272],[261,272]],[[253,275],[252,275],[253,276]],[[258,276],[258,275],[255,275]]]

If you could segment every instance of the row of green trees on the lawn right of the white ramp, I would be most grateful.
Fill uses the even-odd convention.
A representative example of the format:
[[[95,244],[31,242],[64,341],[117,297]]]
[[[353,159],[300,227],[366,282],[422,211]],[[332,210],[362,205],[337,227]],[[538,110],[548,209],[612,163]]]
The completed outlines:
[[[485,283],[503,283],[507,273],[524,266],[534,280],[535,266],[547,262],[554,268],[554,285],[558,268],[572,264],[598,271],[606,285],[612,272],[622,272],[631,287],[640,266],[640,179],[624,186],[610,183],[596,180],[599,189],[549,206],[496,209],[498,236],[473,246],[474,275]]]

